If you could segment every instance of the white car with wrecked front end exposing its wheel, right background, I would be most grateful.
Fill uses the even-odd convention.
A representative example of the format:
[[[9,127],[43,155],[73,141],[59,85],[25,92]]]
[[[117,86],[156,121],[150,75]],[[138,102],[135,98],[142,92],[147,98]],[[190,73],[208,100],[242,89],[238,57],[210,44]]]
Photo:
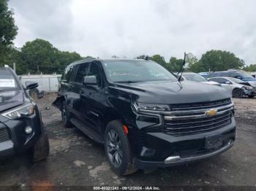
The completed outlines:
[[[209,78],[209,80],[219,82],[234,98],[242,98],[244,95],[254,98],[256,95],[256,87],[252,87],[249,83],[240,79],[233,77],[213,77]]]

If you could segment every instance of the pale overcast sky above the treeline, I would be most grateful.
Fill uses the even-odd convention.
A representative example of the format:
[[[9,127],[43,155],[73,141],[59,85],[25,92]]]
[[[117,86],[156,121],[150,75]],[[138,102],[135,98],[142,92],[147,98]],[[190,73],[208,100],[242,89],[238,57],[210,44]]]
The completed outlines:
[[[80,55],[197,58],[228,50],[256,63],[255,0],[10,0],[22,47],[36,38]]]

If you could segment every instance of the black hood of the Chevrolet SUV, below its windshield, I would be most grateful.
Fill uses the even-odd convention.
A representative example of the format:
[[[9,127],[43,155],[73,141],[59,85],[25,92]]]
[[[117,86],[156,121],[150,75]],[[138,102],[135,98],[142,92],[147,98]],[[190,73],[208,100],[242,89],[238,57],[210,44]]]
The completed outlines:
[[[187,104],[230,98],[230,93],[222,87],[188,80],[138,82],[113,88],[132,93],[135,101],[152,104]]]

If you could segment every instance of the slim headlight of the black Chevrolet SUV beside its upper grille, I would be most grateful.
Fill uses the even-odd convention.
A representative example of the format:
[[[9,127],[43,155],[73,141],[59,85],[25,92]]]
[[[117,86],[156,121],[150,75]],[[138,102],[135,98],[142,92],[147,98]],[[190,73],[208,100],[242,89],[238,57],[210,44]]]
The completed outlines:
[[[170,107],[165,104],[145,104],[137,102],[134,104],[134,107],[136,112],[140,112],[143,110],[165,112],[170,110]]]

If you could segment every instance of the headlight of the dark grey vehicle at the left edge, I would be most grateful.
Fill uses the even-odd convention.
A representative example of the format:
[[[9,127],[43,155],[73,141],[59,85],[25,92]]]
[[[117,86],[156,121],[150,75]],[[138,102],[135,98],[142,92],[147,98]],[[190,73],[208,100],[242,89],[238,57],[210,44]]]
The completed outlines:
[[[1,115],[9,119],[15,120],[19,117],[29,117],[34,114],[34,105],[26,104],[25,106],[19,106],[18,108],[12,109],[8,112],[4,112]]]

